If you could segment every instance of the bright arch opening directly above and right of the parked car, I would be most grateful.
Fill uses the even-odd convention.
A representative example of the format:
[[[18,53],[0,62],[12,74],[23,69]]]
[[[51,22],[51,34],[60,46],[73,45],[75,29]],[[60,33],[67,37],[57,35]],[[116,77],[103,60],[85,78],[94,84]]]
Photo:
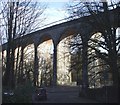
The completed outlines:
[[[45,40],[38,46],[39,86],[51,86],[53,81],[53,41]]]

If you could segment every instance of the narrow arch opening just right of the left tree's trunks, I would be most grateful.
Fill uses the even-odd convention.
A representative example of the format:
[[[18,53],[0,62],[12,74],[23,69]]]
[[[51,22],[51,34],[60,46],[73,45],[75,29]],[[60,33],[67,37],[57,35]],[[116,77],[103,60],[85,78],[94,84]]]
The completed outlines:
[[[30,44],[25,48],[21,47],[20,57],[20,73],[22,81],[33,82],[34,75],[34,44]],[[18,80],[21,81],[21,80]]]

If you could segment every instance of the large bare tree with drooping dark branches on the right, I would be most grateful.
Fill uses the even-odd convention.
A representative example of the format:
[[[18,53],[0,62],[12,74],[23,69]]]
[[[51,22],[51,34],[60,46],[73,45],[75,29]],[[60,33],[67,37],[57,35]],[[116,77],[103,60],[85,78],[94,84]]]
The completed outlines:
[[[73,0],[74,1],[74,0]],[[115,10],[116,14],[113,17],[117,24],[116,27],[112,25],[110,21],[110,11]],[[92,27],[101,33],[100,39],[89,40],[96,44],[88,44],[88,48],[94,50],[96,58],[102,59],[108,66],[109,72],[112,73],[113,86],[119,87],[119,69],[118,69],[118,58],[120,51],[120,35],[117,35],[119,27],[119,16],[120,16],[120,2],[77,2],[69,6],[69,13],[71,19],[80,18],[83,16],[93,16],[96,23],[92,23],[88,20]],[[104,15],[99,16],[98,14],[103,13]],[[79,45],[79,44],[78,44]],[[101,50],[102,49],[102,50]]]

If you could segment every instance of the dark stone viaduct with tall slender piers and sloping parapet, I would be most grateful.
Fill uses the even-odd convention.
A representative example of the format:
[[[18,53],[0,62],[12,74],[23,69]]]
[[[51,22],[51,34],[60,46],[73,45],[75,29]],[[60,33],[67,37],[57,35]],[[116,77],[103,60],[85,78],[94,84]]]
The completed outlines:
[[[120,27],[120,8],[109,11],[110,24],[112,27]],[[80,34],[83,43],[82,50],[82,71],[83,71],[83,83],[87,85],[87,43],[89,38],[96,32],[101,32],[101,28],[98,25],[102,24],[101,19],[105,19],[105,13],[99,13],[96,15],[89,15],[78,19],[70,20],[61,24],[57,24],[42,30],[38,30],[27,34],[22,38],[20,45],[19,39],[15,39],[16,48],[22,46],[24,49],[29,44],[34,44],[34,70],[37,71],[37,47],[44,41],[52,39],[54,45],[53,53],[53,85],[57,84],[57,45],[67,36]],[[101,20],[101,21],[100,21]],[[102,25],[101,25],[102,26]],[[2,50],[7,49],[7,43],[2,45]]]

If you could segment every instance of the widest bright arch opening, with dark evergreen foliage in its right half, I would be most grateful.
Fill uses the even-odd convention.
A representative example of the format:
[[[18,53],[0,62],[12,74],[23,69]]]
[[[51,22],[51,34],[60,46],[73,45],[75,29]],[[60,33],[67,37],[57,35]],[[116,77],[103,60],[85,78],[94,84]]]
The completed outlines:
[[[75,30],[65,32],[58,44],[57,70],[59,85],[76,86],[81,79],[81,36]],[[79,64],[78,64],[79,62]]]

